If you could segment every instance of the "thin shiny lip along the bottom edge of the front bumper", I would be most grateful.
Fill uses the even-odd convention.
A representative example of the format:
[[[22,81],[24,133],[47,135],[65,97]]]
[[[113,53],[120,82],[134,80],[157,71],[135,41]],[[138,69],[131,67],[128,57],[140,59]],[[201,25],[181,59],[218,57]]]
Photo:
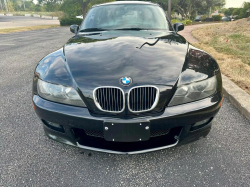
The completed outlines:
[[[76,142],[77,147],[79,147],[79,148],[88,149],[88,150],[92,150],[92,151],[98,151],[98,152],[104,152],[104,153],[120,154],[120,155],[135,155],[135,154],[159,151],[159,150],[162,150],[162,149],[167,149],[167,148],[170,148],[170,147],[174,147],[178,143],[179,143],[179,139],[177,139],[174,144],[163,146],[163,147],[145,149],[145,150],[141,150],[141,151],[121,152],[121,151],[112,151],[112,150],[108,150],[108,149],[99,149],[99,148],[88,147],[88,146],[84,146],[84,145],[81,145],[78,142]]]

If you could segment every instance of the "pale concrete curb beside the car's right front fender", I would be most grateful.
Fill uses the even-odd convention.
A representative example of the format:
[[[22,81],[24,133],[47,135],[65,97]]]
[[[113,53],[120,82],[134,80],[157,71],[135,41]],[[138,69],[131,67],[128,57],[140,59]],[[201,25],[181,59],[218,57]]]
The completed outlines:
[[[225,75],[222,81],[224,96],[250,121],[250,95]]]

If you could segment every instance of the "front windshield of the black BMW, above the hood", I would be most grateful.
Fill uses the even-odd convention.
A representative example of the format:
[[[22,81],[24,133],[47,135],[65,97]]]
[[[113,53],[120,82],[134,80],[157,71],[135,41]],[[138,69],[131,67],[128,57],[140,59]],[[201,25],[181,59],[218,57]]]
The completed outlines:
[[[169,30],[162,8],[155,5],[104,5],[92,8],[80,32],[94,30]],[[172,30],[172,29],[171,29]]]

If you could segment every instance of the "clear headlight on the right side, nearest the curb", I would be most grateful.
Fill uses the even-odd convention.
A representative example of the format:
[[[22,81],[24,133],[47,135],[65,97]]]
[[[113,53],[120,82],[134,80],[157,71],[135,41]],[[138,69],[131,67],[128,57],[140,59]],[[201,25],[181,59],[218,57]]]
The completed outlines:
[[[177,88],[174,97],[168,106],[174,106],[192,101],[204,99],[216,92],[217,79],[216,76],[204,81],[181,85]]]

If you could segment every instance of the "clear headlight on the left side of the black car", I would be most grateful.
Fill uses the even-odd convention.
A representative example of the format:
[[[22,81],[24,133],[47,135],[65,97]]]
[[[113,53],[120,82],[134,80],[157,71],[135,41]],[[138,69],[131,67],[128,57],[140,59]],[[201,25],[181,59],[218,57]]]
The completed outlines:
[[[51,84],[38,79],[37,91],[42,98],[50,101],[86,107],[77,91],[71,87]]]

